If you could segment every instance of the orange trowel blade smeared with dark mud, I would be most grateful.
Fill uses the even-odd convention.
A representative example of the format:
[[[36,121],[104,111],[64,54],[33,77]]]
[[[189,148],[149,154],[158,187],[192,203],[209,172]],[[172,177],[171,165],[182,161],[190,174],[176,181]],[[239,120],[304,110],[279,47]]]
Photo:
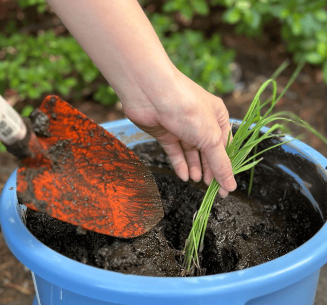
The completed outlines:
[[[124,238],[141,235],[160,221],[155,180],[129,148],[58,96],[48,96],[39,111],[49,117],[49,136],[37,137],[44,149],[41,161],[28,157],[19,164],[17,197],[23,204]]]

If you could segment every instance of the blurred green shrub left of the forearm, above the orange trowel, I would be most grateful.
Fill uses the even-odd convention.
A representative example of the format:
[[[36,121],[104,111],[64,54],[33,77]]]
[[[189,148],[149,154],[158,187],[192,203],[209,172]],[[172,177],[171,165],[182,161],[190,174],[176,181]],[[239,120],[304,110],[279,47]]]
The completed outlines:
[[[0,91],[15,89],[23,98],[44,93],[67,96],[81,92],[101,76],[97,67],[71,36],[56,36],[52,30],[34,37],[24,33],[0,34]],[[108,85],[106,85],[108,87]],[[100,93],[99,93],[100,92]],[[99,86],[95,96],[112,104],[117,96]]]

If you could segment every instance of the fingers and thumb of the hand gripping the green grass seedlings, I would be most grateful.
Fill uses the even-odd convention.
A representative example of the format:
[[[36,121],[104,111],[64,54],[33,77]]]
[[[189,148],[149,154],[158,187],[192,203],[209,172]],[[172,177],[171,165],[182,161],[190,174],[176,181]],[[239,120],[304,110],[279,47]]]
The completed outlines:
[[[228,113],[224,114],[222,115],[224,120],[221,119],[220,123],[219,120],[216,121],[216,128],[210,124],[210,131],[206,133],[206,140],[202,141],[201,146],[195,147],[193,143],[180,141],[179,137],[172,133],[164,133],[156,137],[167,152],[174,171],[183,181],[188,181],[190,177],[193,181],[198,182],[201,180],[203,171],[204,181],[207,185],[211,183],[213,177],[221,185],[219,194],[222,197],[236,189],[231,163],[225,151],[230,124]],[[230,136],[230,140],[231,138]]]

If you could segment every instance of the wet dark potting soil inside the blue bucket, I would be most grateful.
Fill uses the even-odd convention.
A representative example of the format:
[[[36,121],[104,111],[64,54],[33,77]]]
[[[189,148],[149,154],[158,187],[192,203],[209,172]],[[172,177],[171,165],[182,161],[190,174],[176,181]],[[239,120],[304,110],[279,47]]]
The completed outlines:
[[[271,144],[265,142],[258,150]],[[156,142],[138,145],[134,152],[153,172],[162,199],[165,216],[154,229],[137,238],[120,239],[33,210],[27,211],[27,228],[53,250],[91,266],[138,275],[179,276],[180,250],[206,186],[181,181]],[[302,170],[296,172],[300,167]],[[213,204],[201,254],[201,274],[256,266],[310,239],[327,215],[326,181],[317,178],[317,172],[319,169],[312,169],[307,159],[276,148],[265,153],[256,167],[251,196],[247,196],[249,172],[237,175],[237,191],[224,199],[218,195]],[[306,185],[312,182],[309,196],[305,195],[308,190],[299,187],[295,174]],[[314,208],[317,201],[320,206]]]

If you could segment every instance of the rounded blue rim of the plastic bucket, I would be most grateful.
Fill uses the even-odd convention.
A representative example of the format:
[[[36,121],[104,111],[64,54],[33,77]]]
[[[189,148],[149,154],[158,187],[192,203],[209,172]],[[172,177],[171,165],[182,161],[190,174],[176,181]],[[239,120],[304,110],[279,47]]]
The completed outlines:
[[[109,129],[109,132],[110,129],[122,126],[138,131],[128,119],[104,123],[102,126]],[[289,139],[293,138],[285,137],[285,140]],[[285,145],[310,158],[326,175],[325,167],[321,165],[327,165],[327,159],[319,152],[299,140],[293,140]],[[131,298],[133,300],[155,297],[160,303],[161,297],[176,296],[184,302],[193,302],[195,298],[205,303],[206,296],[224,294],[235,298],[237,293],[240,300],[246,301],[290,286],[327,262],[327,223],[325,223],[302,246],[267,263],[239,271],[201,277],[161,278],[122,274],[91,267],[48,248],[26,228],[20,217],[21,206],[18,205],[15,195],[16,175],[17,170],[10,176],[1,193],[0,223],[8,247],[22,264],[38,276],[81,295],[94,295],[99,300],[107,301],[110,293],[111,302],[120,304],[125,299],[126,304],[130,304]]]

